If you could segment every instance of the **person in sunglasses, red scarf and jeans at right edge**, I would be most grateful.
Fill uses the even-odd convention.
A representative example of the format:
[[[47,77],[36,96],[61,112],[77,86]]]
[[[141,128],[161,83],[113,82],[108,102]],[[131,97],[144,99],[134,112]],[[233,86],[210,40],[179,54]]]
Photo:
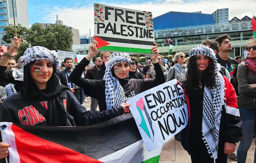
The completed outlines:
[[[237,162],[245,163],[247,151],[251,146],[254,132],[255,122],[255,106],[256,98],[256,38],[249,41],[246,48],[248,56],[244,62],[238,64],[237,80],[239,85],[238,108],[242,119],[242,129],[244,139],[240,141],[237,149]],[[254,162],[256,162],[254,152]]]

